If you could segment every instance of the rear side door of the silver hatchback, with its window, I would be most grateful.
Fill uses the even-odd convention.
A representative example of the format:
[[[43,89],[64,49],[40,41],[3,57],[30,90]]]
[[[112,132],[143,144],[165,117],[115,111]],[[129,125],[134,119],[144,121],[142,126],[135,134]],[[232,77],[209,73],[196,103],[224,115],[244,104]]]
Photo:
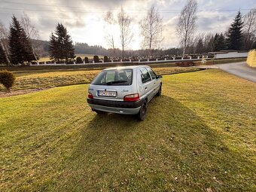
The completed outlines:
[[[154,94],[154,84],[152,83],[151,76],[145,67],[141,67],[140,72],[142,77],[142,88],[144,90],[145,97],[148,97],[148,101],[150,101]]]

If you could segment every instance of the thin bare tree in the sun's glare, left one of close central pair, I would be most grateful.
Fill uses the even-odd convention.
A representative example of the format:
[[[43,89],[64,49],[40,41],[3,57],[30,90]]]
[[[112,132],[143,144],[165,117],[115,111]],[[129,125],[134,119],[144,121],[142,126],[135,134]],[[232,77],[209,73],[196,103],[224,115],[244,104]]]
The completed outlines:
[[[105,23],[107,23],[109,26],[109,30],[108,32],[106,32],[106,35],[105,35],[105,40],[107,41],[107,44],[109,45],[109,47],[111,47],[111,49],[113,50],[113,53],[115,53],[113,28],[117,22],[116,20],[114,20],[113,13],[111,11],[108,11],[105,14],[104,20],[105,20]]]

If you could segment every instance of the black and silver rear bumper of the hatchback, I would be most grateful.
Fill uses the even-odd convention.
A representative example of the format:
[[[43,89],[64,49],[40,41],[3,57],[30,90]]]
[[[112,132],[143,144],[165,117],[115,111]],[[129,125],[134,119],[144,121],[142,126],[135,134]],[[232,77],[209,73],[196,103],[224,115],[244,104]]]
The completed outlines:
[[[102,99],[87,99],[90,108],[117,114],[138,114],[143,100],[137,102],[108,101]]]

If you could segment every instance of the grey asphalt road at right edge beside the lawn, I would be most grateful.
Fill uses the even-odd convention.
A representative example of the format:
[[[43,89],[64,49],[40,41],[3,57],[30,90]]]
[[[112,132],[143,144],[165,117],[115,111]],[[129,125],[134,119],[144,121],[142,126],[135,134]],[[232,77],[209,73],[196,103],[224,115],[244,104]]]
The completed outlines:
[[[218,66],[218,68],[224,72],[228,72],[240,78],[247,79],[248,81],[256,82],[256,69],[247,66],[246,62],[233,62],[218,64],[215,66]]]

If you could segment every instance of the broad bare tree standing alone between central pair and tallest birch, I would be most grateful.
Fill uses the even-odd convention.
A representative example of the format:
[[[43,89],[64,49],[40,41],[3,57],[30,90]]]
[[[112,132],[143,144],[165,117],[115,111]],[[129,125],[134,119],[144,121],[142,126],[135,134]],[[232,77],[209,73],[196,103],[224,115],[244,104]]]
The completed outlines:
[[[163,41],[163,18],[154,6],[148,10],[146,17],[140,22],[143,36],[143,47],[148,47],[151,54],[151,49]]]

